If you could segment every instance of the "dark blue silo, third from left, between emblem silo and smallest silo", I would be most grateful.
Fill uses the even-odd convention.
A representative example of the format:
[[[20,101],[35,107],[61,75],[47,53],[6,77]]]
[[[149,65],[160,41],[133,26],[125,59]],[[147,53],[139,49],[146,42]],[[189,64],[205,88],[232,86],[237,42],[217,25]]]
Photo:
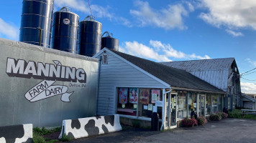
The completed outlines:
[[[79,23],[78,54],[93,56],[101,49],[102,24],[95,21],[92,16]]]

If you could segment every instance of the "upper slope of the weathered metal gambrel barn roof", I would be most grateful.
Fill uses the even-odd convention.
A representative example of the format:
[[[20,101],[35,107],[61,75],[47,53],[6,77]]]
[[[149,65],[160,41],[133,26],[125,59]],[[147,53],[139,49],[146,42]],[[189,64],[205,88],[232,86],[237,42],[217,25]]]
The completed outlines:
[[[211,69],[229,69],[234,61],[234,58],[224,59],[201,59],[191,61],[168,61],[160,62],[166,66],[171,66],[177,69],[184,69],[186,71],[193,70],[211,70]]]

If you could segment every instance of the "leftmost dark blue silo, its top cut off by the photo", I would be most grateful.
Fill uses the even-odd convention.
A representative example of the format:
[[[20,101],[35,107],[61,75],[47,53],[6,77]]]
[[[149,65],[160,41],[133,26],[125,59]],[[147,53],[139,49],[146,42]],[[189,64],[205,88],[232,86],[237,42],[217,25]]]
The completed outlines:
[[[23,0],[19,41],[50,48],[53,0]]]

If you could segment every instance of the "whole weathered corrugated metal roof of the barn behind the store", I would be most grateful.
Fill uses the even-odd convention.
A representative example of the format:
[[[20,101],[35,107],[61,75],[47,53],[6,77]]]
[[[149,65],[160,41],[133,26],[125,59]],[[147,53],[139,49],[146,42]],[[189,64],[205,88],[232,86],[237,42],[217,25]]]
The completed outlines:
[[[194,76],[208,82],[219,89],[227,92],[229,69],[234,62],[234,58],[224,59],[201,59],[191,61],[169,61],[161,62],[166,66],[183,69]]]

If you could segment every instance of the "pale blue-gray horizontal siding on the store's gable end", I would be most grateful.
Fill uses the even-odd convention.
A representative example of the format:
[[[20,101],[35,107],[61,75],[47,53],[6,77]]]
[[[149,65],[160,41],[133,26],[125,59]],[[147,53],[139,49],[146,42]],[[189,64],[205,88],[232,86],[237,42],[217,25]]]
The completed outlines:
[[[100,64],[99,115],[116,114],[117,87],[168,88],[111,53],[103,54],[108,55],[108,64]]]

